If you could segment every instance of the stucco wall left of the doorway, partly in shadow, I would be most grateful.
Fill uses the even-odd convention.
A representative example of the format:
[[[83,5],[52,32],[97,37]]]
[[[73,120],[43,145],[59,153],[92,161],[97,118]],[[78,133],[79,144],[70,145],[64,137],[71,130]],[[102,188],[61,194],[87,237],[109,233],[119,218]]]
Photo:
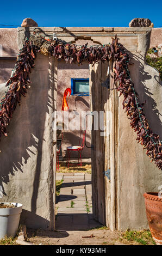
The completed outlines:
[[[17,105],[8,137],[2,136],[0,145],[0,202],[22,203],[21,223],[32,228],[54,228],[54,61],[38,54],[31,87]],[[1,98],[5,90],[1,86]]]

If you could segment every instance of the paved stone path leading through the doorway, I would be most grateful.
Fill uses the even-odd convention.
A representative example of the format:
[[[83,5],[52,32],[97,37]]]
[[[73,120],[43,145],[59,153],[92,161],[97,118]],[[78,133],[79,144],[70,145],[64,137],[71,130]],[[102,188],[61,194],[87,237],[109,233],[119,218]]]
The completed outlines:
[[[91,174],[57,173],[56,179],[64,181],[55,205],[55,229],[68,231],[101,227],[92,216]]]

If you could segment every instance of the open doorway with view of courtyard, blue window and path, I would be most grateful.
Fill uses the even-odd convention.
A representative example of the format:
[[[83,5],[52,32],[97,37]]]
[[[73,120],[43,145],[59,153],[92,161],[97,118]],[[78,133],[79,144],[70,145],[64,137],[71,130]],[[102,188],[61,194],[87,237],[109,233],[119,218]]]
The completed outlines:
[[[56,174],[55,229],[58,230],[90,229],[101,225],[94,218],[92,206],[92,149],[88,127],[90,118],[87,116],[90,113],[89,76],[88,63],[78,66],[58,60],[57,111],[61,111],[65,89],[72,89],[68,99],[68,124],[64,121],[65,117],[61,119],[59,114],[57,122],[60,126],[62,124],[59,129],[63,128],[57,133],[59,166]],[[64,114],[67,115],[67,112]],[[67,148],[80,145],[83,150],[79,159],[78,150],[71,150],[68,163]]]

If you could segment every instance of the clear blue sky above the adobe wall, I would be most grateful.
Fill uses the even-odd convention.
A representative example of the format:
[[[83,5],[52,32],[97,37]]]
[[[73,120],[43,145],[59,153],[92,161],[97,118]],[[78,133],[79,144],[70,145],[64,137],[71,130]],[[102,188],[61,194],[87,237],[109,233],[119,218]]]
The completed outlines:
[[[162,26],[162,1],[2,0],[0,9],[4,25],[21,25],[30,17],[40,27],[128,27],[135,17],[148,17],[155,27]]]

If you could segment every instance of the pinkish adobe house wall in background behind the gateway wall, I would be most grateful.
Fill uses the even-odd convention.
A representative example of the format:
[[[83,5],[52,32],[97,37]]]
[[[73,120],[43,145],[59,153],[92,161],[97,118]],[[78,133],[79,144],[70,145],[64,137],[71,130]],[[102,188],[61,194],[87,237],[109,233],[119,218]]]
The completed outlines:
[[[86,40],[89,45],[95,43],[91,40]],[[152,28],[150,47],[159,45],[162,42],[162,28]],[[83,45],[85,41],[80,39],[76,44]],[[15,65],[15,58],[18,54],[18,42],[17,42],[17,28],[0,28],[0,45],[2,45],[2,51],[0,48],[0,83],[6,82],[11,74],[11,71]],[[1,59],[1,56],[10,57],[8,59]],[[74,64],[66,64],[64,61],[58,62],[58,101],[57,109],[61,109],[61,103],[63,100],[64,91],[67,87],[71,87],[70,78],[88,78],[89,77],[89,65],[84,63],[81,66]],[[82,99],[81,99],[82,98]],[[77,110],[78,113],[82,111],[89,111],[89,96],[71,95],[69,99],[70,111]],[[64,142],[62,144],[63,156],[66,156],[66,147],[68,145],[78,144],[80,131],[65,131]],[[86,141],[90,146],[90,132],[86,133]],[[77,155],[74,153],[74,157]],[[91,151],[88,148],[84,148],[83,157],[91,157]]]

